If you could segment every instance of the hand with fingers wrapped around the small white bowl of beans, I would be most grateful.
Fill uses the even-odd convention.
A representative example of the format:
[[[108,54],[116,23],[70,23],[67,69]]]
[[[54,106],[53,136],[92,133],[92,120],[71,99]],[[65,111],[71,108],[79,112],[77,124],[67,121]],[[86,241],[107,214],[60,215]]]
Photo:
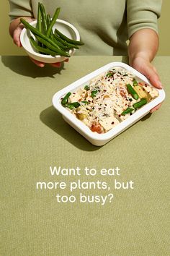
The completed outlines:
[[[27,20],[27,22],[32,22],[33,18],[31,17],[23,17],[24,20]],[[20,34],[22,33],[22,29],[24,28],[24,25],[20,22],[20,17],[13,20],[10,25],[9,25],[9,33],[13,38],[14,44],[16,44],[16,46],[18,47],[22,47],[21,41],[20,41]],[[35,59],[32,59],[32,62],[34,62],[38,67],[45,67],[45,63],[41,62],[41,61],[37,61]],[[65,62],[68,62],[68,59],[66,59]],[[61,67],[61,62],[56,62],[56,63],[52,63],[50,64],[53,67]]]

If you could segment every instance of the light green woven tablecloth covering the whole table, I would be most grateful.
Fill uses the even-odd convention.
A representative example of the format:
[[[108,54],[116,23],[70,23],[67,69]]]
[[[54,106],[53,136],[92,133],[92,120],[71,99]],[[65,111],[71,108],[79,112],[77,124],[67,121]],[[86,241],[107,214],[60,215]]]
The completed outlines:
[[[170,57],[154,60],[166,91],[161,109],[103,147],[81,137],[51,103],[58,90],[111,61],[127,59],[73,56],[61,69],[40,69],[27,56],[1,57],[0,255],[169,255]],[[79,167],[81,176],[52,176],[50,166]],[[86,166],[97,175],[86,176]],[[120,176],[99,174],[117,166]],[[110,190],[50,187],[78,179],[107,182]],[[115,179],[129,189],[115,189]],[[37,182],[50,183],[36,189]],[[79,202],[80,192],[107,201]],[[58,202],[57,194],[76,202]]]

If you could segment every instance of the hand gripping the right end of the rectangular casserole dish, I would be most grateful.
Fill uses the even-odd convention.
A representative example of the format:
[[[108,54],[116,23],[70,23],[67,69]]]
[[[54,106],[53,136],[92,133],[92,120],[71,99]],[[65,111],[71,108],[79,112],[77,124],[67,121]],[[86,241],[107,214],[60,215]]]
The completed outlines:
[[[133,60],[131,66],[134,69],[137,69],[140,73],[144,74],[148,78],[148,80],[150,80],[153,86],[158,89],[163,88],[156,68],[153,67],[153,65],[148,60],[144,59],[143,57],[137,57]],[[160,107],[161,104],[158,104],[158,106],[155,106],[151,109],[151,113],[153,113],[153,111],[156,111]]]

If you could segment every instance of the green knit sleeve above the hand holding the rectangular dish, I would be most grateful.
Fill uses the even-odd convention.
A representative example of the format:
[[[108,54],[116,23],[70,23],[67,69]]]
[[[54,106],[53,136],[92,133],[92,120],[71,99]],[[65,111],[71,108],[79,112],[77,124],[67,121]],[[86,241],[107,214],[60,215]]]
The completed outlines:
[[[158,17],[162,0],[127,0],[128,37],[141,28],[151,28],[158,33]]]

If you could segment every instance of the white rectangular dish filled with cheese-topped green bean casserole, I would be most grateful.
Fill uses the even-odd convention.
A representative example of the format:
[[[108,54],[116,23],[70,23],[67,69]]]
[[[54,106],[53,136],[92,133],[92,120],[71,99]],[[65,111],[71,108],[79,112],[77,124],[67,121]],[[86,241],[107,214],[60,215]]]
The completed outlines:
[[[143,74],[112,62],[56,93],[53,105],[92,144],[104,145],[164,98]]]

